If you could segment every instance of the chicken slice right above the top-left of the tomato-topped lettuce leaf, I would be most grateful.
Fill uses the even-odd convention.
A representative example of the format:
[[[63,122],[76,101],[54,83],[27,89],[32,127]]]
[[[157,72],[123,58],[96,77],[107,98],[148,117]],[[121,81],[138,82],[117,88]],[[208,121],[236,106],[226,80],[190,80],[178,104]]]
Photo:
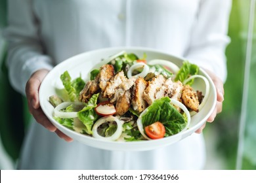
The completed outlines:
[[[153,101],[156,100],[156,93],[164,83],[165,77],[163,77],[163,75],[158,75],[156,78],[152,78],[152,80],[148,82],[148,86],[143,93],[143,98],[146,100],[148,105],[151,105]]]

